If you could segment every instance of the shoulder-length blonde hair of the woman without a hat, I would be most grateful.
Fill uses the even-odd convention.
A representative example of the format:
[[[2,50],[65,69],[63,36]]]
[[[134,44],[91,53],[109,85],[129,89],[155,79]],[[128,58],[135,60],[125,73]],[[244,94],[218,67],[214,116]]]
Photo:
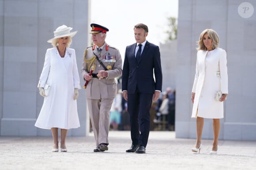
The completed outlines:
[[[203,36],[208,33],[209,37],[212,40],[212,49],[218,48],[218,43],[219,43],[219,39],[218,39],[218,34],[215,32],[215,30],[213,29],[205,29],[203,30],[203,32],[200,34],[200,38],[199,41],[197,42],[198,47],[196,48],[196,50],[204,50],[207,51],[207,47],[205,47],[204,43],[203,43]]]

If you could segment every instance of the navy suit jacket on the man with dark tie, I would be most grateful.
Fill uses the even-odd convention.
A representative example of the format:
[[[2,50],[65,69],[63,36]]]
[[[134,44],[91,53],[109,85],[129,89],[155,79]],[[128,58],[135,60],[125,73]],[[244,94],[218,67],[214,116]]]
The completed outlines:
[[[127,90],[128,94],[134,94],[136,87],[143,94],[154,94],[155,90],[162,91],[159,47],[147,41],[138,62],[135,48],[136,43],[127,46],[125,50],[122,90]]]

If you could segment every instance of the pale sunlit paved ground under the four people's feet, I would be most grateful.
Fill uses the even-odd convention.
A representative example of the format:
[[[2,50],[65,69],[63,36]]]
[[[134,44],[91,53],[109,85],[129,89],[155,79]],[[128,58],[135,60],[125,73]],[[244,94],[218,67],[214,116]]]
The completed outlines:
[[[0,137],[0,170],[255,170],[256,141],[219,141],[210,155],[211,140],[192,154],[195,139],[175,132],[151,131],[146,154],[126,153],[129,131],[109,132],[109,151],[94,153],[93,133],[68,137],[68,152],[51,152],[52,137]]]

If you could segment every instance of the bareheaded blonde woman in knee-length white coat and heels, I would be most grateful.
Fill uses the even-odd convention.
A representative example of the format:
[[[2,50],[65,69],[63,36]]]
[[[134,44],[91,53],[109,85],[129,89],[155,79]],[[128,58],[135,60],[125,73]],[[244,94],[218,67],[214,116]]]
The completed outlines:
[[[219,48],[218,34],[205,29],[200,34],[196,59],[196,75],[192,88],[192,118],[196,118],[196,144],[193,153],[200,153],[203,118],[213,119],[214,140],[211,154],[217,154],[220,120],[223,118],[223,101],[228,94],[226,51]],[[215,99],[215,93],[222,92]]]

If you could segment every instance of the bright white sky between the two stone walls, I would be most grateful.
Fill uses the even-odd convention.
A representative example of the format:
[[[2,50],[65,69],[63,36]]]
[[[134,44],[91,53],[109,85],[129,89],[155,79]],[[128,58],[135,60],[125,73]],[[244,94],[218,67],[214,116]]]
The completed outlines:
[[[147,40],[156,45],[168,39],[169,17],[178,18],[178,0],[91,0],[90,22],[109,29],[106,43],[119,49],[122,58],[126,46],[136,43],[133,28],[148,26]]]

